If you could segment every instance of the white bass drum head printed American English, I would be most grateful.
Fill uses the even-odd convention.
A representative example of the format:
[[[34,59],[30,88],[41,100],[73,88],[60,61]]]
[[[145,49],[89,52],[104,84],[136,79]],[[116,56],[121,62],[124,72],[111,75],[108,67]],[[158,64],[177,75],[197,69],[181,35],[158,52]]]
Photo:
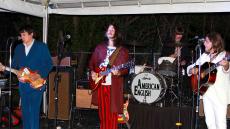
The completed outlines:
[[[131,92],[140,103],[151,104],[161,100],[167,90],[165,79],[158,73],[143,72],[134,77]]]

